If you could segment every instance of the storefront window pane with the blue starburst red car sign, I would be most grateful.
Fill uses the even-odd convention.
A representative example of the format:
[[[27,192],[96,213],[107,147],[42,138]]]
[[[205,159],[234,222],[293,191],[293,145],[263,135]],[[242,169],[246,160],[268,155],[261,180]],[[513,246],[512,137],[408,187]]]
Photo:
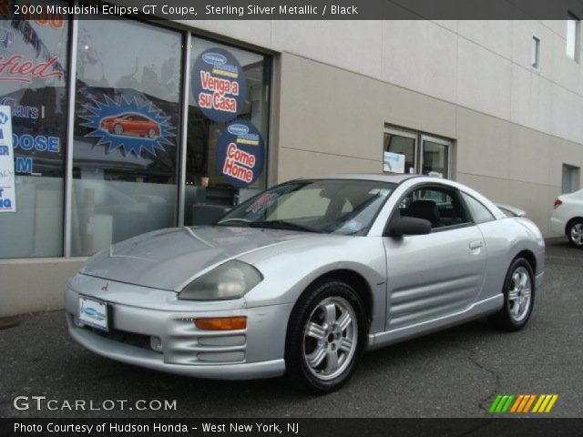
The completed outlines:
[[[80,20],[71,254],[176,226],[182,35]]]

